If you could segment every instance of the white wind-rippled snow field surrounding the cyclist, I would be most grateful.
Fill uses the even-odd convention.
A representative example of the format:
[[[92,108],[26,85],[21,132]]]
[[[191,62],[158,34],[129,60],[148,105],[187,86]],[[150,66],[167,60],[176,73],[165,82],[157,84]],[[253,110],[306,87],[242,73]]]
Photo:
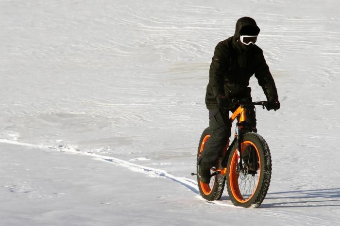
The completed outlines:
[[[0,225],[339,225],[339,8],[0,0]],[[211,57],[242,16],[261,29],[281,102],[257,108],[272,153],[258,209],[226,191],[207,202],[190,176]]]

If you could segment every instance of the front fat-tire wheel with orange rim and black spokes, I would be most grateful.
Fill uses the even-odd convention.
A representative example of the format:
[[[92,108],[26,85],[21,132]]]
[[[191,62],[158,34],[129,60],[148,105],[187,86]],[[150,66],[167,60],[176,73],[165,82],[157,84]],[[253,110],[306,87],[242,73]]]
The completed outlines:
[[[235,206],[257,208],[265,198],[272,175],[271,153],[266,141],[257,133],[242,135],[242,166],[237,145],[228,158],[227,189]]]

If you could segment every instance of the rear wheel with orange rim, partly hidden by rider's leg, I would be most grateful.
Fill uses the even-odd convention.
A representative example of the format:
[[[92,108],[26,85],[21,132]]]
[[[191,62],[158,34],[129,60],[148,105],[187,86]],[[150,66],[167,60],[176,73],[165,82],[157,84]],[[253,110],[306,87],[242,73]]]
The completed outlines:
[[[201,139],[200,139],[200,144],[198,145],[198,151],[197,151],[197,159],[202,156],[204,153],[204,145],[208,141],[210,137],[211,131],[209,128],[204,129]],[[196,165],[196,169],[198,169]],[[216,171],[216,168],[213,167],[211,168],[211,174],[213,174]],[[198,173],[198,172],[197,172]],[[213,201],[213,200],[219,200],[222,196],[223,189],[224,189],[224,184],[225,184],[225,176],[218,174],[210,179],[210,183],[206,184],[203,183],[199,176],[197,175],[197,183],[198,183],[198,188],[200,190],[200,193],[202,197],[204,197],[206,200]]]

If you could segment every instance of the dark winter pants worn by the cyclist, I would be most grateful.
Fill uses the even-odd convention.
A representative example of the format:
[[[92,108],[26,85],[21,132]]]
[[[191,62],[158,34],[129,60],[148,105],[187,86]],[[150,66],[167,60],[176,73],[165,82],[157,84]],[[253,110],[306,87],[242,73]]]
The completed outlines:
[[[234,112],[235,110],[236,109],[232,109],[231,112]],[[252,128],[256,128],[254,109],[248,110],[247,123],[249,123]],[[204,154],[200,163],[206,167],[215,166],[217,159],[221,156],[223,148],[231,135],[229,110],[218,108],[209,109],[209,128],[211,129],[210,138],[204,146]]]

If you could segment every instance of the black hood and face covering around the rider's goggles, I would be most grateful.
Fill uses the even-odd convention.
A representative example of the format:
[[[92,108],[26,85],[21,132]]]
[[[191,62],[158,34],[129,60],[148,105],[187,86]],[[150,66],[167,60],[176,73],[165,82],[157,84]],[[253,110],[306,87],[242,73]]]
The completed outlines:
[[[233,45],[240,51],[247,51],[251,49],[254,45],[244,45],[239,40],[241,35],[258,35],[260,32],[259,27],[257,27],[256,22],[253,18],[244,16],[238,19],[235,27],[235,34],[233,37]]]

